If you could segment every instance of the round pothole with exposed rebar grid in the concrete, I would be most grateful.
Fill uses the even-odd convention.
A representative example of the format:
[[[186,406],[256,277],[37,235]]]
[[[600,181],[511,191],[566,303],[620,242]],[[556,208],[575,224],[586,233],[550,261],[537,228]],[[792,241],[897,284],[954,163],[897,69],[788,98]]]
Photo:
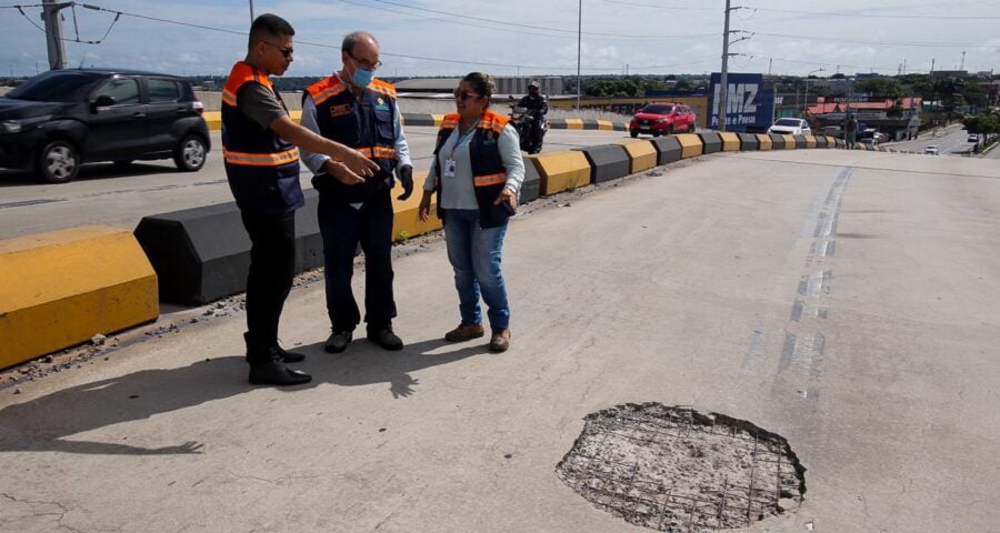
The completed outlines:
[[[556,466],[598,509],[669,532],[748,527],[798,507],[806,469],[781,435],[659,403],[587,415]]]

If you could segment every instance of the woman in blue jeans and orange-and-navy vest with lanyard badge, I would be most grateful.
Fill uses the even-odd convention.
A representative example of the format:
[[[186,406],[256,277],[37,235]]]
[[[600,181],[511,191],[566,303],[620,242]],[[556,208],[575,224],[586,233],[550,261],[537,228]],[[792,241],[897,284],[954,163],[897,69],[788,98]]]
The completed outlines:
[[[514,128],[489,109],[492,95],[493,79],[482,72],[469,73],[454,90],[458,112],[446,115],[438,132],[418,213],[423,221],[430,217],[437,192],[461,314],[461,323],[444,339],[483,336],[481,295],[492,330],[490,350],[502,352],[510,345],[510,304],[500,257],[507,221],[518,208],[524,161]]]

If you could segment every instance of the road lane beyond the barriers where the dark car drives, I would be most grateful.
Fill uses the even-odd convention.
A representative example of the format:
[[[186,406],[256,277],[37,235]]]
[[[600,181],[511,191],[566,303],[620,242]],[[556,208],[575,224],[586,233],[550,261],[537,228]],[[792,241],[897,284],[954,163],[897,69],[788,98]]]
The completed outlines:
[[[414,168],[427,171],[434,128],[408,127]],[[620,131],[550,130],[544,151],[604,144],[628,139]],[[137,162],[127,170],[110,163],[81,169],[70,183],[39,183],[23,172],[0,171],[0,239],[83,224],[132,230],[144,215],[232,201],[222,164],[222,143],[212,132],[212,151],[199,172],[179,172],[172,161]],[[302,187],[311,188],[304,169]]]

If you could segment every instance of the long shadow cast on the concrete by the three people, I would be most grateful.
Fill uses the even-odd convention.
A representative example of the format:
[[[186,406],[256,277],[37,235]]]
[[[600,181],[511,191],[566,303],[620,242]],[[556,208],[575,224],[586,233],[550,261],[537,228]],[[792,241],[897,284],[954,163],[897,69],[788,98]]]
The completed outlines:
[[[337,355],[324,353],[322,344],[300,346],[297,350],[304,351],[307,360],[292,366],[312,373],[313,381],[307,385],[279,390],[294,393],[323,383],[342,386],[388,383],[393,398],[406,398],[412,395],[419,384],[410,372],[452,363],[488,351],[483,344],[459,348],[448,353],[429,353],[442,346],[453,345],[434,340],[407,345],[400,352],[387,352],[361,339],[351,343],[346,352]],[[212,358],[188,366],[143,370],[120,378],[86,383],[9,405],[0,410],[0,453],[12,451],[127,455],[201,453],[202,444],[193,441],[142,447],[124,442],[88,442],[66,438],[122,422],[149,419],[156,414],[258,389],[247,383],[247,370],[242,354]]]

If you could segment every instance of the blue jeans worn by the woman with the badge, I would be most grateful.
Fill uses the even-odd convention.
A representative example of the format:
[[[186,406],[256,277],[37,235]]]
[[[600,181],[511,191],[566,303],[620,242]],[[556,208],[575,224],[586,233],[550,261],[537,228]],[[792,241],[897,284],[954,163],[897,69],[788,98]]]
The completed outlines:
[[[500,272],[500,252],[507,224],[483,230],[479,228],[479,211],[474,209],[444,210],[444,240],[448,261],[454,270],[454,289],[459,293],[459,312],[463,324],[481,324],[479,295],[486,302],[490,326],[510,328],[510,304],[507,285]]]

